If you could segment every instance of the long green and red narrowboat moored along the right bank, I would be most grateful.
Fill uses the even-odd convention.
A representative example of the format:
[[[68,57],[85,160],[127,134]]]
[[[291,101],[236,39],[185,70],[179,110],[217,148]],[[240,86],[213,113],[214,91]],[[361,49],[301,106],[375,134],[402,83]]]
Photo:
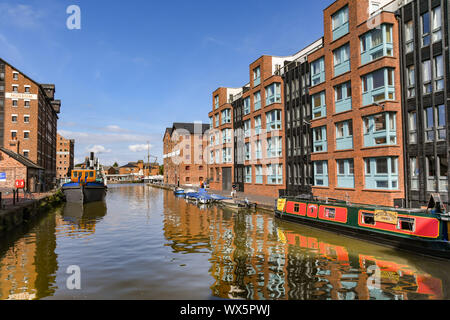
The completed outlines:
[[[275,215],[402,250],[450,259],[450,214],[439,195],[427,209],[354,204],[317,197],[280,197]]]

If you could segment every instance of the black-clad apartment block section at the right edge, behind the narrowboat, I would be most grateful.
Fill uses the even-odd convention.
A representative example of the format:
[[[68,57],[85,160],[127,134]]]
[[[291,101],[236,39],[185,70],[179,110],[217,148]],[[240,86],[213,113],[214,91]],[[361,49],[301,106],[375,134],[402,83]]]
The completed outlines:
[[[404,1],[398,17],[406,203],[424,206],[439,193],[448,205],[449,2]]]

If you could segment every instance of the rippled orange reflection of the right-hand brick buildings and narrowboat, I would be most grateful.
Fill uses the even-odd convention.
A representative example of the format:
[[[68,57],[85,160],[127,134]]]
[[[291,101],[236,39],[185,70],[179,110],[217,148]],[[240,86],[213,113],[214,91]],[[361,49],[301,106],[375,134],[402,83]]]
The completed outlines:
[[[230,299],[442,299],[442,280],[384,247],[291,229],[271,214],[200,210],[164,193],[174,252],[210,252],[212,294]],[[336,244],[337,243],[337,244]]]

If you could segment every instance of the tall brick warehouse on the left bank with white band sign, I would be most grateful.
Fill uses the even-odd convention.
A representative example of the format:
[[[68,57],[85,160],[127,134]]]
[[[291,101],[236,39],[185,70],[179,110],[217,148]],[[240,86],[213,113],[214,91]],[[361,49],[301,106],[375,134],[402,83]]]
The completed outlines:
[[[44,168],[38,184],[56,183],[56,135],[61,101],[55,86],[40,84],[0,59],[0,146]]]

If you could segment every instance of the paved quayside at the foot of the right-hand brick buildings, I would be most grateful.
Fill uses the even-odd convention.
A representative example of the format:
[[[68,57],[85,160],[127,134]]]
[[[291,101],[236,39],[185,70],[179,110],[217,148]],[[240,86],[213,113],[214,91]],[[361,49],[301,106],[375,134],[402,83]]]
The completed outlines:
[[[154,187],[154,188],[160,188],[160,189],[172,190],[172,191],[176,187],[176,186],[169,185],[169,184],[148,183],[147,185]],[[193,186],[180,186],[180,188],[192,189],[195,191],[198,191],[200,189],[199,187],[193,187]],[[207,189],[207,191],[210,194],[217,194],[217,195],[220,195],[223,197],[231,196],[231,192],[228,192],[228,191],[219,191],[219,190],[210,190],[210,189]],[[277,200],[276,198],[273,198],[273,197],[267,197],[267,196],[262,196],[262,195],[252,195],[252,194],[247,194],[244,192],[236,192],[235,199],[241,200],[241,201],[248,199],[249,202],[256,204],[257,209],[271,211],[271,212],[273,212],[275,210],[275,201]]]

